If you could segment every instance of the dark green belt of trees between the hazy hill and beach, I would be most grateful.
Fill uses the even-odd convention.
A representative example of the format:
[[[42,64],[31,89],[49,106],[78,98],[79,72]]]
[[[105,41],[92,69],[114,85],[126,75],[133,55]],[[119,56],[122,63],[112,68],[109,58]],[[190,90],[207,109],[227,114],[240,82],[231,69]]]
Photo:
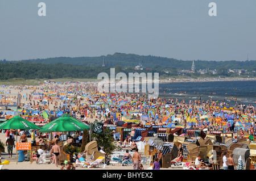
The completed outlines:
[[[129,73],[159,73],[159,77],[167,78],[177,76],[176,68],[171,69],[171,73],[165,73],[163,68],[155,65],[152,69],[134,70],[134,67],[122,67],[121,65],[113,66],[115,74],[123,72],[129,76]],[[98,74],[105,72],[110,76],[110,68],[102,66],[84,66],[74,64],[40,64],[27,62],[0,62],[0,79],[7,80],[11,78],[23,79],[55,79],[55,78],[92,78],[97,79]],[[236,77],[236,73],[228,73],[226,68],[218,68],[217,74],[187,74],[188,77]],[[256,77],[256,73],[250,74],[250,77]]]

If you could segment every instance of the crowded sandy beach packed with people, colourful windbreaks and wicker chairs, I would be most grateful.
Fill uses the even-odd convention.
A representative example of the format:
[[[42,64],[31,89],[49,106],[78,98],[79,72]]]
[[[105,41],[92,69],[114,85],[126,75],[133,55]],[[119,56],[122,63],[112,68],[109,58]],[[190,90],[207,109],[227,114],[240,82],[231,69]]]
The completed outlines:
[[[233,108],[213,99],[186,103],[176,98],[148,99],[147,94],[100,93],[93,81],[9,85],[0,91],[0,129],[17,116],[43,129],[69,115],[88,127],[102,123],[102,129],[113,134],[115,146],[109,153],[92,138],[84,150],[60,158],[54,154],[55,145],[59,142],[62,156],[70,155],[65,146],[81,148],[83,131],[1,129],[1,163],[7,163],[0,164],[2,170],[232,170],[232,166],[254,170],[255,107],[251,104]],[[26,150],[19,161],[22,154],[17,154],[16,144],[22,142],[24,132],[24,142],[31,143],[37,155],[30,157]],[[59,158],[57,165],[55,158]]]

